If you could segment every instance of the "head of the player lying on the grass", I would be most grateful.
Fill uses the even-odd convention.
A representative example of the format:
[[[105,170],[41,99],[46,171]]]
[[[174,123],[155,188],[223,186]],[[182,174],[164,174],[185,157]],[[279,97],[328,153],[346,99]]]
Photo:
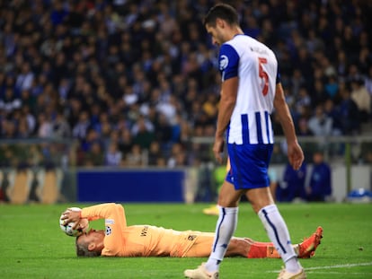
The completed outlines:
[[[75,240],[76,255],[79,257],[101,256],[104,231],[90,230],[78,236]]]

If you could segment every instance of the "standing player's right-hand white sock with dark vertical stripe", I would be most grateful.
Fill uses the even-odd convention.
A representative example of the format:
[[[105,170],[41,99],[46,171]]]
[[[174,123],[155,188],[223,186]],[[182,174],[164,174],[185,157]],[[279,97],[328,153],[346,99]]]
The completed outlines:
[[[287,224],[280,215],[277,205],[267,205],[261,208],[258,215],[288,272],[298,272],[302,266],[297,261],[297,255],[290,241]]]

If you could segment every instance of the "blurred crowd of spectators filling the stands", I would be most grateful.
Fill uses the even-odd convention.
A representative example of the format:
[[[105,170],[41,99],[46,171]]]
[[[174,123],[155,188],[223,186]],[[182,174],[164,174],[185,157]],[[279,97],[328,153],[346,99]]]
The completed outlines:
[[[276,53],[299,136],[363,133],[372,2],[226,2],[244,32]],[[215,3],[1,1],[1,140],[69,139],[76,166],[197,165],[205,152],[190,137],[213,136],[217,118],[218,49],[202,25]],[[275,113],[273,123],[283,135]],[[27,153],[53,158],[50,149]],[[14,153],[1,144],[0,165]]]

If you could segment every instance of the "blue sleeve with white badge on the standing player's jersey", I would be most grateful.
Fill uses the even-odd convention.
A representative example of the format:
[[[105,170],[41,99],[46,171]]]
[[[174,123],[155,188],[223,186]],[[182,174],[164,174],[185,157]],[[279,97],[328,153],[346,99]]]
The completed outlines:
[[[219,71],[222,75],[222,82],[229,78],[238,76],[239,55],[235,48],[223,44],[219,50]]]

